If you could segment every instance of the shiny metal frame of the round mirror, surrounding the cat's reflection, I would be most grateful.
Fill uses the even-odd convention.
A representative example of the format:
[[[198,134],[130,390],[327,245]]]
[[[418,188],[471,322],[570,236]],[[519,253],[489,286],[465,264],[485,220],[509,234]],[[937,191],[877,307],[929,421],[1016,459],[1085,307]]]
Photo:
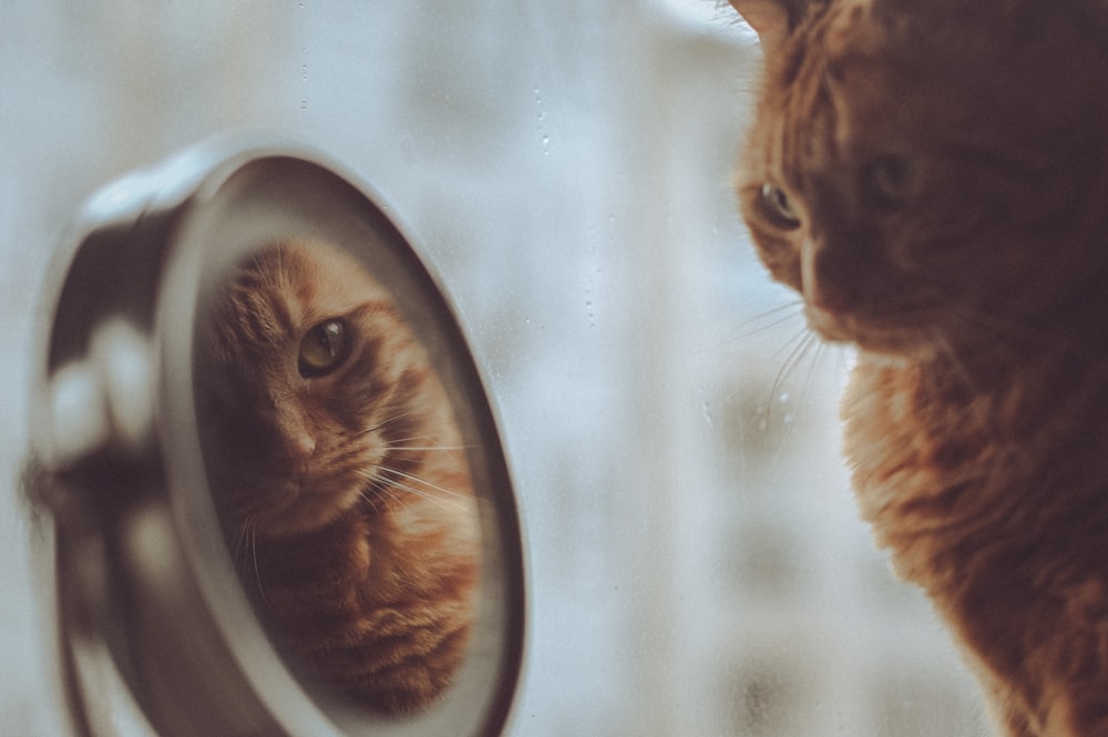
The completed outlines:
[[[306,191],[306,178],[338,193],[378,234],[370,249],[392,269],[387,283],[403,285],[398,301],[417,335],[434,337],[432,360],[449,356],[448,395],[463,434],[480,440],[471,451],[488,561],[479,590],[491,575],[500,611],[495,632],[478,634],[462,667],[486,683],[455,684],[450,692],[463,697],[448,694],[427,719],[337,717],[320,707],[254,616],[207,491],[192,385],[192,336],[213,258],[204,240],[234,219],[236,197],[250,186],[276,187],[275,202],[307,202],[320,187]],[[78,218],[48,283],[51,319],[41,335],[50,337],[25,479],[44,512],[40,569],[54,582],[47,606],[75,734],[114,734],[104,730],[121,719],[163,737],[400,737],[466,719],[474,737],[502,734],[524,653],[520,510],[458,313],[381,202],[318,152],[219,139],[109,185]],[[314,215],[304,217],[312,227]]]

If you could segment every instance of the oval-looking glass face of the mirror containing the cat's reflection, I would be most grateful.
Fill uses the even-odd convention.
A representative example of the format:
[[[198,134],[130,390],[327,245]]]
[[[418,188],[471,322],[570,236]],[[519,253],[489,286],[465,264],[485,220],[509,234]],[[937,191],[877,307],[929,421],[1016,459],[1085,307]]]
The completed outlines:
[[[433,277],[358,188],[295,156],[235,171],[178,252],[211,503],[278,656],[347,733],[486,734],[517,667],[521,551]]]

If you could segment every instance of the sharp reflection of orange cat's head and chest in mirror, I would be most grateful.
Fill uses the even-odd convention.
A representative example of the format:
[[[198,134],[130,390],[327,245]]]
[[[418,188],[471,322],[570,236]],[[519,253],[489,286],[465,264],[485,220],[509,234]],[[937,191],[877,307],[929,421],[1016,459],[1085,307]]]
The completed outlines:
[[[473,620],[476,508],[393,299],[334,246],[275,244],[235,274],[198,350],[205,461],[259,616],[319,683],[425,708]]]

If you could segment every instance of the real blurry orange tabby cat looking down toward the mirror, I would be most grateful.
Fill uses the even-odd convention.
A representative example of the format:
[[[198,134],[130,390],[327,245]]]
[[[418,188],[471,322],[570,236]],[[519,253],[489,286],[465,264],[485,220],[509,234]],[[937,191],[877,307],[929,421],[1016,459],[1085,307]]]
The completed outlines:
[[[1108,737],[1108,2],[732,0],[739,193],[858,346],[864,518],[1009,736]]]

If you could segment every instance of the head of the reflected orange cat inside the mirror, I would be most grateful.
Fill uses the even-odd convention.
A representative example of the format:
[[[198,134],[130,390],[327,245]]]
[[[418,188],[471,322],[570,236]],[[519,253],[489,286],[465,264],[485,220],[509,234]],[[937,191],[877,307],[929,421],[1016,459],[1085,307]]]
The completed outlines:
[[[289,242],[253,256],[197,341],[198,414],[217,505],[266,535],[310,532],[403,472],[427,358],[349,255]],[[403,442],[408,440],[409,442]]]

